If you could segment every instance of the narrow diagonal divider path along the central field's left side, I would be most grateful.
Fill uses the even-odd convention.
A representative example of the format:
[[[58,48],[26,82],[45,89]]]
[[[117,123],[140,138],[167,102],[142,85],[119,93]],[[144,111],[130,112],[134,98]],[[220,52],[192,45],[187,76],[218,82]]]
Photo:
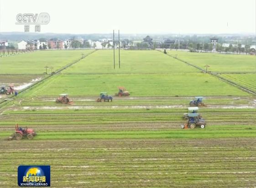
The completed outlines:
[[[26,87],[26,88],[20,90],[20,91],[19,91],[19,94],[21,94],[22,92],[26,91],[27,89],[31,89],[32,87],[36,86],[37,84],[39,84],[39,83],[41,83],[41,82],[43,82],[43,81],[45,81],[45,80],[47,80],[47,79],[49,79],[49,78],[52,78],[52,76],[61,73],[64,69],[67,69],[68,67],[72,66],[73,64],[76,64],[76,63],[79,62],[81,59],[86,58],[88,55],[94,53],[95,51],[97,51],[97,49],[95,49],[95,50],[92,51],[91,53],[86,54],[86,55],[84,55],[83,57],[81,57],[81,58],[75,60],[74,62],[69,63],[69,64],[65,65],[64,67],[58,69],[54,74],[50,74],[49,76],[45,77],[44,79],[41,79],[41,80],[39,80],[38,82],[35,82],[34,84],[31,84],[30,86],[28,86],[28,87]],[[11,99],[11,98],[13,98],[13,97],[15,97],[15,95],[11,95],[10,97],[8,97],[8,98],[6,98],[6,99]],[[8,101],[8,100],[6,100],[6,99],[3,100],[3,101],[0,101],[0,104],[4,103],[5,101]]]

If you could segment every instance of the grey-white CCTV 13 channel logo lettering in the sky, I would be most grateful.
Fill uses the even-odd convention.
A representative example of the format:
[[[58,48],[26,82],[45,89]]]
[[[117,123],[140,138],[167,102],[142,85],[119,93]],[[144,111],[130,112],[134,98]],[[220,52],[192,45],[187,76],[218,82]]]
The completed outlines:
[[[40,24],[46,25],[50,21],[50,15],[46,12],[38,14],[17,14],[16,25],[31,25],[31,24]]]

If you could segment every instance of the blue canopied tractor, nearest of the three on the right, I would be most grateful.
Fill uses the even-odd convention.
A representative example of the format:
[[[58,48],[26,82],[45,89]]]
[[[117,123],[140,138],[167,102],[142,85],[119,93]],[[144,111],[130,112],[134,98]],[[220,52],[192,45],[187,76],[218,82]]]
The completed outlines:
[[[206,125],[206,122],[204,119],[200,118],[198,113],[188,113],[188,120],[185,124],[181,125],[182,129],[194,129],[196,127],[200,127],[201,129],[204,129]]]

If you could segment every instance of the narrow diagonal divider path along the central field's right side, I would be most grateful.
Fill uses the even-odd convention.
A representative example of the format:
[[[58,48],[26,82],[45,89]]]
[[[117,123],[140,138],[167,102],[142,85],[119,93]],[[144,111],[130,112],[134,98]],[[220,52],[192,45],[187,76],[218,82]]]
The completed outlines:
[[[163,52],[162,52],[161,50],[157,50],[157,51],[159,51],[160,53],[163,54]],[[179,58],[177,58],[177,57],[174,57],[174,56],[172,56],[172,55],[170,55],[170,54],[166,54],[166,55],[168,55],[168,56],[170,56],[170,57],[172,57],[172,58],[174,58],[174,59],[177,59],[177,60],[179,60],[179,61],[181,61],[181,62],[183,62],[183,63],[185,63],[185,64],[188,64],[188,65],[190,65],[190,66],[192,66],[192,67],[194,67],[194,68],[196,68],[196,69],[199,69],[199,70],[201,70],[201,71],[204,72],[204,73],[207,73],[204,69],[202,69],[201,67],[199,67],[199,66],[197,66],[197,65],[188,63],[187,61],[184,61],[184,60],[182,60],[182,59],[179,59]],[[208,73],[209,73],[209,72],[208,72]],[[220,80],[222,80],[222,81],[224,81],[224,82],[227,82],[227,83],[229,83],[229,84],[231,84],[231,85],[233,85],[233,86],[235,86],[235,87],[237,87],[237,88],[239,88],[239,89],[241,89],[241,90],[243,90],[243,91],[246,91],[247,93],[256,95],[256,91],[253,91],[253,90],[251,90],[251,89],[248,89],[248,88],[246,88],[246,87],[244,87],[244,86],[242,86],[242,85],[240,85],[240,84],[236,84],[235,82],[232,82],[232,81],[230,81],[229,79],[225,79],[225,78],[223,78],[222,76],[220,76],[218,73],[210,72],[209,74],[210,74],[210,75],[213,75],[213,76],[219,78]]]

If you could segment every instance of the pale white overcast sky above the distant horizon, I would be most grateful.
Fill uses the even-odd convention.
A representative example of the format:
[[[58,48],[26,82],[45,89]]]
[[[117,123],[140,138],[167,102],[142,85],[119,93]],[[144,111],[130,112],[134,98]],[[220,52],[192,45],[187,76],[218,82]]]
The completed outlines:
[[[24,32],[15,24],[19,13],[47,12],[41,33],[255,33],[255,1],[0,0],[0,32]]]

